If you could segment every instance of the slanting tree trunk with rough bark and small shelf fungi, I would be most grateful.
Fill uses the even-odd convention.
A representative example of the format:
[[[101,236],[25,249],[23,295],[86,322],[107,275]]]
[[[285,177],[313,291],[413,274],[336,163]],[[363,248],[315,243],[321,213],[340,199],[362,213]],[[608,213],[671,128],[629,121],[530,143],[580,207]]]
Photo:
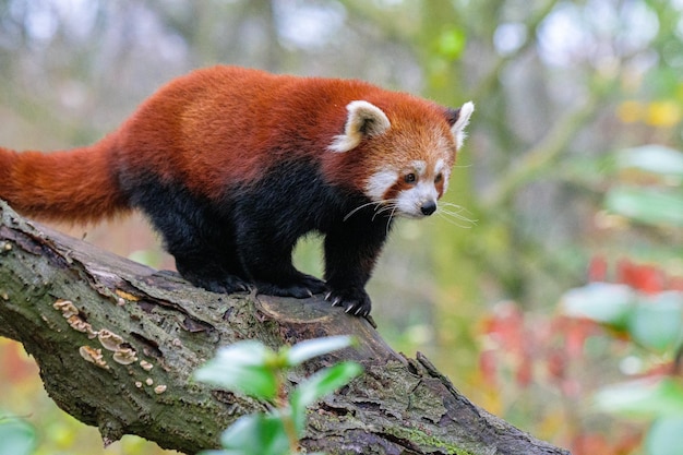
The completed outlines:
[[[51,398],[105,443],[137,434],[193,454],[256,400],[193,382],[218,346],[277,348],[352,334],[357,349],[308,362],[291,383],[340,359],[364,374],[310,410],[302,445],[329,454],[568,454],[488,414],[423,356],[393,351],[370,326],[317,298],[196,289],[17,216],[0,202],[0,335],[22,343]],[[119,338],[120,337],[120,338]]]

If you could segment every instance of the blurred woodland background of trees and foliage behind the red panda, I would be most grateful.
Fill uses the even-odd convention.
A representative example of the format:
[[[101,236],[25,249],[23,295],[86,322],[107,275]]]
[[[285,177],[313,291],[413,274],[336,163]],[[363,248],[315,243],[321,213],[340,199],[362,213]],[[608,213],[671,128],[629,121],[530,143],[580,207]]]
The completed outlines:
[[[474,100],[446,196],[456,215],[397,223],[370,282],[380,332],[575,454],[658,453],[657,414],[606,415],[596,393],[680,379],[683,1],[0,0],[0,144],[91,144],[161,84],[216,63]],[[60,229],[173,266],[137,216]],[[319,240],[296,261],[321,273]],[[591,313],[615,289],[630,309],[664,299],[675,311],[633,316],[650,321],[638,338]],[[650,343],[662,321],[669,338]],[[103,450],[7,339],[0,381],[0,416],[35,428],[33,453],[170,453],[133,436]]]

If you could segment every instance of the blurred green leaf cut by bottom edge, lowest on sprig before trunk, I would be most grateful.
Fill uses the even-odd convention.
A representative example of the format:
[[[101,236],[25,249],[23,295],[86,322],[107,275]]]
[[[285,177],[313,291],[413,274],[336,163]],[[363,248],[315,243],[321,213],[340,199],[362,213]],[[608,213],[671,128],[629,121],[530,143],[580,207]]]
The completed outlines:
[[[289,439],[281,419],[253,414],[239,418],[220,436],[223,447],[230,455],[286,455]]]

